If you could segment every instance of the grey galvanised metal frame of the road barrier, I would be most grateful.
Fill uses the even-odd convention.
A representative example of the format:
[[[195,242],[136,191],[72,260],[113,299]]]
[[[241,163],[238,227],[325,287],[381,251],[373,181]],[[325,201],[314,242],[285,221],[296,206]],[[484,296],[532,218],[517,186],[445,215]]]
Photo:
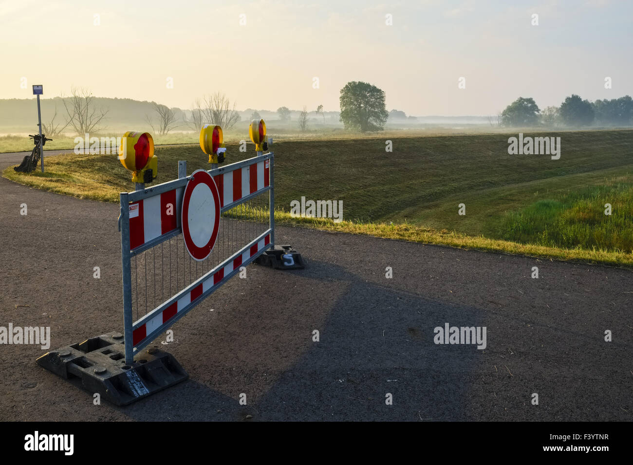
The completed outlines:
[[[121,216],[120,216],[120,229],[121,229],[121,262],[122,262],[122,271],[123,271],[123,328],[124,328],[124,337],[125,337],[125,364],[134,363],[134,354],[140,353],[143,347],[150,344],[158,335],[164,332],[167,328],[173,325],[180,318],[185,316],[185,314],[189,313],[191,309],[197,306],[200,302],[202,302],[206,297],[213,294],[216,289],[222,287],[222,285],[227,282],[232,276],[239,272],[239,268],[234,268],[234,270],[230,271],[227,274],[223,274],[218,282],[215,282],[215,275],[218,271],[221,271],[228,264],[232,263],[232,261],[242,256],[246,251],[248,251],[254,245],[257,245],[261,240],[264,240],[265,237],[270,235],[270,241],[268,244],[265,244],[263,248],[258,248],[255,254],[251,254],[248,259],[242,260],[241,266],[246,266],[249,263],[253,262],[254,259],[259,257],[268,249],[273,249],[275,244],[275,199],[274,199],[274,152],[268,152],[263,155],[258,155],[254,158],[249,158],[243,161],[238,161],[237,163],[232,163],[227,166],[222,166],[222,168],[215,168],[208,170],[212,177],[222,175],[224,173],[229,173],[230,171],[238,170],[240,168],[244,168],[244,166],[250,166],[254,163],[259,163],[260,161],[270,160],[268,175],[269,182],[268,186],[258,190],[258,192],[246,195],[241,199],[231,202],[228,205],[222,206],[220,209],[220,214],[228,211],[235,206],[252,199],[258,195],[262,195],[268,191],[268,204],[270,208],[270,224],[268,230],[259,235],[256,239],[251,240],[248,244],[244,245],[239,251],[235,252],[227,259],[219,263],[213,270],[208,271],[203,276],[198,278],[195,282],[191,283],[189,286],[177,292],[175,295],[172,295],[165,302],[160,304],[158,307],[153,309],[151,312],[145,314],[137,321],[132,321],[132,271],[130,265],[130,259],[135,255],[146,251],[147,249],[151,249],[155,245],[161,244],[161,242],[165,242],[166,240],[171,239],[182,233],[182,225],[172,230],[169,233],[165,233],[155,239],[146,242],[145,244],[139,245],[139,247],[135,247],[134,250],[130,251],[130,212],[129,205],[132,202],[140,201],[142,199],[146,199],[147,197],[153,197],[154,195],[160,195],[163,192],[168,192],[170,190],[179,189],[181,187],[185,187],[187,182],[191,177],[184,177],[186,174],[186,170],[182,170],[183,163],[179,164],[179,176],[183,175],[183,177],[179,177],[173,181],[165,182],[162,184],[158,184],[154,187],[149,187],[147,189],[135,190],[134,192],[121,192],[119,195],[119,199],[121,202]],[[177,311],[168,321],[164,322],[162,325],[158,326],[151,333],[146,334],[141,343],[134,345],[134,330],[142,327],[148,321],[156,318],[156,316],[163,313],[165,309],[172,306],[175,302],[178,302],[179,299],[191,293],[199,285],[203,285],[203,282],[212,278],[214,280],[213,285],[208,288],[206,291],[203,290],[201,295],[198,295],[194,300],[190,301],[185,307]]]

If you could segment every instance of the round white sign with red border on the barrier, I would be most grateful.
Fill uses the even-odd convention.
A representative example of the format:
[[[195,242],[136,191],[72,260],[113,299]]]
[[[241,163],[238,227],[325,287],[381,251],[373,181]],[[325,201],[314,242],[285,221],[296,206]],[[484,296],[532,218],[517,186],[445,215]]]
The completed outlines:
[[[220,227],[220,194],[213,177],[204,170],[192,173],[182,196],[182,237],[192,259],[209,256]]]

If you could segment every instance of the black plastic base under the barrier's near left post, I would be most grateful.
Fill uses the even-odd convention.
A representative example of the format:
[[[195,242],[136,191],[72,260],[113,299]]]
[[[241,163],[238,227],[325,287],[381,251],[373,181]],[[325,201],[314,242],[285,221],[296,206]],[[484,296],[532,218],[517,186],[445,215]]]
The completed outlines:
[[[51,350],[37,364],[117,406],[125,406],[189,378],[176,359],[151,347],[125,364],[123,335],[112,332]]]

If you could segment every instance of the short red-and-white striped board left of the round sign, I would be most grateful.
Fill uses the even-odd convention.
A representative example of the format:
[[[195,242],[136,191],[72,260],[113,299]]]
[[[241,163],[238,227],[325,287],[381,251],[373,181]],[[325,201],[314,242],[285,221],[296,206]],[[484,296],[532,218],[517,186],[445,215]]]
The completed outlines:
[[[130,250],[180,227],[184,187],[130,203]]]

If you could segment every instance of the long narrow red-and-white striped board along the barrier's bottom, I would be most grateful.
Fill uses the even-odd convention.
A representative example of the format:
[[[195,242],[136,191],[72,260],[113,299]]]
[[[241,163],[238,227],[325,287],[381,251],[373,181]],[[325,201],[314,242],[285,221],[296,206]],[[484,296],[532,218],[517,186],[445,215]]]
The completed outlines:
[[[163,311],[156,314],[152,319],[146,321],[141,326],[133,330],[132,344],[134,346],[140,344],[148,335],[165,325],[165,323],[168,323],[168,321],[177,313],[184,311],[191,302],[199,299],[204,292],[221,285],[225,280],[225,276],[229,276],[231,271],[237,270],[240,266],[242,266],[242,263],[246,263],[248,259],[256,255],[257,252],[260,252],[268,244],[270,244],[270,234],[263,237],[263,239],[260,239],[257,244],[253,244],[240,256],[235,257],[235,259],[225,264],[223,268],[220,268],[220,270],[216,271],[213,275],[209,276],[206,280],[194,287],[191,292],[187,292],[187,294],[180,297],[177,301],[172,302],[170,306],[165,307]]]

